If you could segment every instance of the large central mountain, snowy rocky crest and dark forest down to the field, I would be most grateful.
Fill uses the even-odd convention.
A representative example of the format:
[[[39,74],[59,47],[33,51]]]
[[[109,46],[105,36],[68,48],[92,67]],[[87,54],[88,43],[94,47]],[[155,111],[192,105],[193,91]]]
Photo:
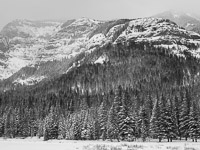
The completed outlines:
[[[162,18],[81,18],[58,28],[35,63],[0,84],[0,136],[197,137],[198,33]]]

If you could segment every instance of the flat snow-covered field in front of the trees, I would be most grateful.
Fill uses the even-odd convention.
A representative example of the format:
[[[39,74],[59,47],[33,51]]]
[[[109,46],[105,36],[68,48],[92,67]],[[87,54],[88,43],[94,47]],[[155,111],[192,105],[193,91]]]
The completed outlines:
[[[200,150],[200,142],[110,142],[110,141],[70,141],[38,138],[3,139],[1,150]]]

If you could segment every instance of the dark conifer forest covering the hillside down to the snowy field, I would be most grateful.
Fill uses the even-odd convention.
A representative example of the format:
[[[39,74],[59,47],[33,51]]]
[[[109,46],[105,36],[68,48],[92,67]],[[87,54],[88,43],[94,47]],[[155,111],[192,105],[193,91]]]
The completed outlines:
[[[197,140],[200,64],[183,55],[134,40],[81,53],[66,74],[0,94],[0,136]]]

